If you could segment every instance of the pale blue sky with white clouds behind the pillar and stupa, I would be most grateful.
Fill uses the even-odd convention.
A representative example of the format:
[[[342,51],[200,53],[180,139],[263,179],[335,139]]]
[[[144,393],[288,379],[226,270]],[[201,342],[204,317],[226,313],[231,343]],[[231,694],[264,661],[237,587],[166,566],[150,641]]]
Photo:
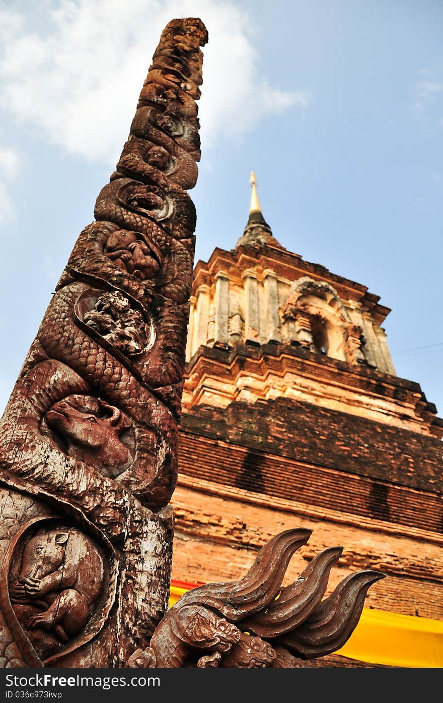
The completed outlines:
[[[397,374],[443,414],[443,3],[0,2],[0,410],[108,181],[168,20],[209,29],[197,259],[254,169],[284,247],[367,285]]]

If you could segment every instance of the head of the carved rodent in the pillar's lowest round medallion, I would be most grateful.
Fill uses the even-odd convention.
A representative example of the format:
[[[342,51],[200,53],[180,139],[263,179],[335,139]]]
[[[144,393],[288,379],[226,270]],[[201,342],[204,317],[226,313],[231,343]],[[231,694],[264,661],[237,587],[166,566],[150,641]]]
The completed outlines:
[[[23,550],[20,579],[43,579],[62,564],[69,534],[66,530],[51,530],[29,540]]]

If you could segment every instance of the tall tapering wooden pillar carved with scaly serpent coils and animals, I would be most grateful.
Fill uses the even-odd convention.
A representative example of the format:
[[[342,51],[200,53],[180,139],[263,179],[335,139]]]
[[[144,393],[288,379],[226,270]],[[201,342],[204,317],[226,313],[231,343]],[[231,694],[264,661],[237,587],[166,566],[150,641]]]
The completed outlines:
[[[206,41],[161,34],[1,420],[1,666],[123,666],[167,607]]]

